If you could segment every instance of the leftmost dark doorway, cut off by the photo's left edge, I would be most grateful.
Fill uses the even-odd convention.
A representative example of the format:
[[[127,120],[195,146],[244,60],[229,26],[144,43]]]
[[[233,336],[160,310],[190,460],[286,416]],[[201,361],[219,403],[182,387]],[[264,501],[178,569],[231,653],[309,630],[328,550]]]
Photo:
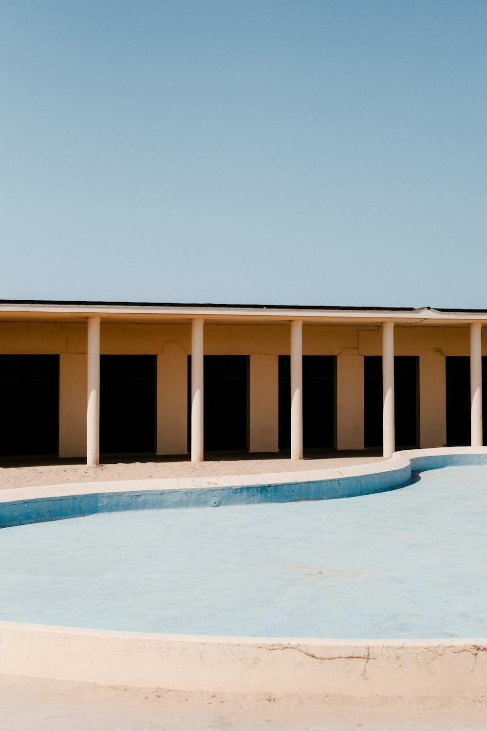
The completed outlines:
[[[2,456],[58,454],[58,355],[0,355],[0,404]]]

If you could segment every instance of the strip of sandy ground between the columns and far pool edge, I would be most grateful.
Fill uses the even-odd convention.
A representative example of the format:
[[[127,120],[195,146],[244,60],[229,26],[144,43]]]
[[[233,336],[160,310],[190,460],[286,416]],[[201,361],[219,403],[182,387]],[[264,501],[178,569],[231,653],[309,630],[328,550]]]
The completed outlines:
[[[336,452],[334,452],[336,454]],[[0,467],[0,489],[62,485],[70,482],[102,482],[104,480],[145,480],[164,477],[220,477],[231,474],[261,474],[267,472],[303,471],[352,466],[368,462],[380,462],[378,455],[364,452],[342,452],[340,457],[308,458],[291,460],[275,458],[275,455],[253,455],[242,458],[228,455],[207,461],[191,463],[188,459],[158,458],[157,461],[123,462],[110,461],[98,467],[87,467],[78,460],[58,460],[42,463],[29,460],[5,461]],[[134,460],[137,457],[134,457]]]

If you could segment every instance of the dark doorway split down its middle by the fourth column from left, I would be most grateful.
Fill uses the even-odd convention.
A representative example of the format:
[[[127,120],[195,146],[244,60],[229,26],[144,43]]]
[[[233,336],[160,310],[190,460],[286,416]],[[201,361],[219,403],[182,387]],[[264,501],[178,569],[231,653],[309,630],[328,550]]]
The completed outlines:
[[[394,356],[396,449],[419,444],[419,358]],[[364,446],[383,446],[382,356],[364,357]]]

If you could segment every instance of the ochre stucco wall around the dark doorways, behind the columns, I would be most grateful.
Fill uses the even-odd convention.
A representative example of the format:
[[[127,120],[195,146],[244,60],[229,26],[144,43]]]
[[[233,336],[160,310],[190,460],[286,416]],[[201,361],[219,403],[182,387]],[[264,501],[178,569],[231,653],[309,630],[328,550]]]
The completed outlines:
[[[396,355],[419,357],[421,447],[446,440],[445,356],[469,355],[468,327],[399,326]],[[250,451],[277,450],[277,356],[289,353],[288,325],[206,325],[208,355],[250,356]],[[157,451],[187,452],[190,325],[101,324],[102,354],[158,356]],[[337,447],[364,444],[364,356],[381,355],[380,327],[304,325],[304,355],[337,356]],[[1,322],[0,353],[59,354],[59,450],[85,454],[85,323]],[[483,334],[483,355],[487,355]]]

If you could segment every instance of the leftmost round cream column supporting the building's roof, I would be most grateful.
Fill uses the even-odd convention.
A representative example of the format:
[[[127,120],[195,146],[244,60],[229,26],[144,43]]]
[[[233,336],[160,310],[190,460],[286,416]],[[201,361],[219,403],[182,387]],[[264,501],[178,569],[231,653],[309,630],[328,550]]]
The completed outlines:
[[[88,317],[86,464],[100,463],[100,318]]]

